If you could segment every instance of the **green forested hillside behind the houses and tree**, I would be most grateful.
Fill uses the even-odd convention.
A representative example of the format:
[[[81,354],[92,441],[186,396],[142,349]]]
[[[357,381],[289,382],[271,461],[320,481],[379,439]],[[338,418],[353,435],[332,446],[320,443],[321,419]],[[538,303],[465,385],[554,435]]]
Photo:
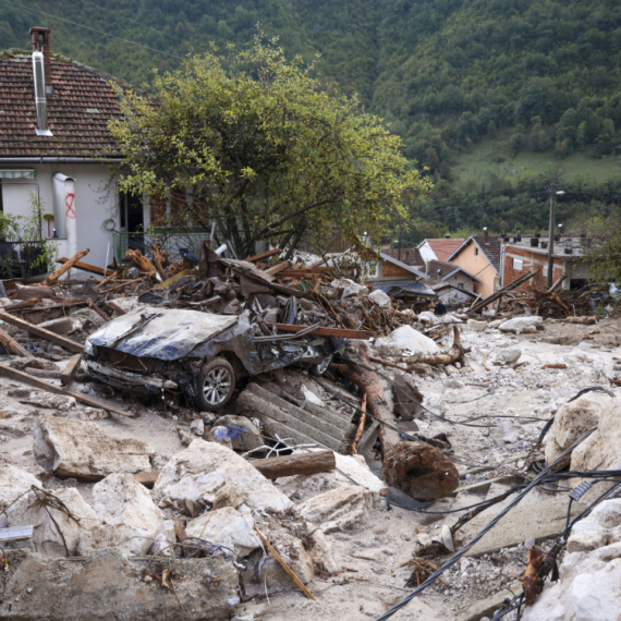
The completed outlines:
[[[617,196],[599,183],[621,145],[617,0],[0,0],[1,48],[27,48],[34,24],[136,85],[259,24],[386,119],[437,183],[425,219],[453,230],[544,226],[550,180],[587,187],[585,204]]]

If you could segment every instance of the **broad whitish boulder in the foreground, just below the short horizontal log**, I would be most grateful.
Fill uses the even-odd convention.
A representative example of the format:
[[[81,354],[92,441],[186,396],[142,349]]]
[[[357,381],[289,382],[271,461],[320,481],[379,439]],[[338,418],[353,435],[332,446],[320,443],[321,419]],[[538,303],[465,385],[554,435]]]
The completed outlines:
[[[246,502],[252,509],[284,511],[293,506],[284,494],[234,451],[200,439],[194,440],[163,466],[153,494],[160,502],[165,497],[181,502],[185,499],[214,502],[216,492],[227,483],[247,490]]]

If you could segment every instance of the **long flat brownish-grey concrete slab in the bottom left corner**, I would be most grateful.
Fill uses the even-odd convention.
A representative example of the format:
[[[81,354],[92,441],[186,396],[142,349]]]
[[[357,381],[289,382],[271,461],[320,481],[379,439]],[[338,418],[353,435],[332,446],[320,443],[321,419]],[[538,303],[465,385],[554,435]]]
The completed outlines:
[[[224,621],[240,601],[235,568],[219,558],[133,560],[111,548],[66,562],[29,550],[9,552],[0,618],[49,621]],[[170,568],[175,595],[160,586]]]

